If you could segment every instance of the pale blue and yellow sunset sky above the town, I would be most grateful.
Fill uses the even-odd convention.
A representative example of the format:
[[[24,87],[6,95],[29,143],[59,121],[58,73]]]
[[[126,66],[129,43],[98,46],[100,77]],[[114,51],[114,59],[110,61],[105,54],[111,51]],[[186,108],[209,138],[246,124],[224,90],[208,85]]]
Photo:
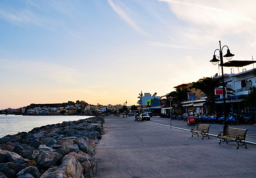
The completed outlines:
[[[254,0],[0,0],[0,109],[136,105],[141,91],[161,96],[219,74],[209,62],[219,41],[232,60],[256,60],[255,7]]]

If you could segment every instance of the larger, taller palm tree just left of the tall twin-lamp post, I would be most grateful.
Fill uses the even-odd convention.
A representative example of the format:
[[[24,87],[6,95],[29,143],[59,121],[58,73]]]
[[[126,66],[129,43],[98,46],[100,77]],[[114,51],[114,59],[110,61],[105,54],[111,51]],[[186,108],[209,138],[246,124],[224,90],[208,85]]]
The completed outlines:
[[[207,97],[207,105],[208,105],[208,113],[211,114],[213,113],[213,105],[211,99],[214,98],[215,96],[215,88],[218,88],[222,86],[221,83],[221,78],[216,79],[214,76],[213,77],[204,77],[202,79],[199,79],[197,82],[193,82],[193,85],[189,87],[188,89],[195,88],[196,90],[199,89],[201,92],[204,92],[206,97]],[[233,91],[230,88],[227,88],[227,91]],[[228,92],[228,94],[232,94]]]

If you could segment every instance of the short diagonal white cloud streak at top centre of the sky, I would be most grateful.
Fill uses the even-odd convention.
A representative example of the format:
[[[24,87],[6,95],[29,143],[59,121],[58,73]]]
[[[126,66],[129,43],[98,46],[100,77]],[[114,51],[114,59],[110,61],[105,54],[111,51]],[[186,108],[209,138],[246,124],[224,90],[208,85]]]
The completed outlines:
[[[134,28],[137,32],[143,35],[149,35],[143,29],[141,29],[128,15],[117,5],[115,5],[111,0],[108,0],[109,5],[113,8],[113,10],[124,20],[128,23],[132,28]]]

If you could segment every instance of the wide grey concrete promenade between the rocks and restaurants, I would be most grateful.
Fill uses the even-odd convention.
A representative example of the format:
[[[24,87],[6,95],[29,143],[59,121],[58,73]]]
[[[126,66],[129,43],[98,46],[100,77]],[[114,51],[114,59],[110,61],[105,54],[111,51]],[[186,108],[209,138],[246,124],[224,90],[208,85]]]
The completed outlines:
[[[97,178],[256,177],[256,145],[236,149],[235,142],[218,145],[214,136],[202,140],[190,131],[151,123],[170,119],[104,118],[105,134],[96,145]]]

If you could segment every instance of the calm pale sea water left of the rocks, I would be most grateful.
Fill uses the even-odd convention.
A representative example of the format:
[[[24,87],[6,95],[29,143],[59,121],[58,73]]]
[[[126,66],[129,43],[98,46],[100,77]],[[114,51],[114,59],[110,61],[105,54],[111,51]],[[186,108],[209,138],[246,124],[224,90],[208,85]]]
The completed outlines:
[[[18,132],[28,132],[35,127],[57,124],[63,121],[77,121],[93,116],[22,116],[0,115],[0,138]]]

